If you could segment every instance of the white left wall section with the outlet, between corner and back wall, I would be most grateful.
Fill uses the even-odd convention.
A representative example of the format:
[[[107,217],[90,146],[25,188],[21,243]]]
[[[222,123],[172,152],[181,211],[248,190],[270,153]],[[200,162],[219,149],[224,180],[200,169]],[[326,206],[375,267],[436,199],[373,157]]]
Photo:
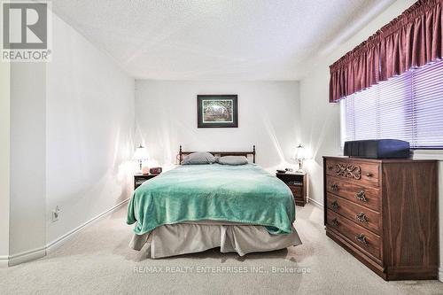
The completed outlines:
[[[47,64],[46,243],[129,198],[134,79],[53,15]],[[51,210],[61,209],[59,221]]]

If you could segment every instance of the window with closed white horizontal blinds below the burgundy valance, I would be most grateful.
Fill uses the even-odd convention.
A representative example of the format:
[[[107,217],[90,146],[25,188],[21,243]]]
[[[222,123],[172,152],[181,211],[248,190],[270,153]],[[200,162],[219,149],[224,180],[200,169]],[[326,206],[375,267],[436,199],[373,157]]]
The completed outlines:
[[[340,101],[341,142],[401,139],[443,149],[443,61],[409,70]]]

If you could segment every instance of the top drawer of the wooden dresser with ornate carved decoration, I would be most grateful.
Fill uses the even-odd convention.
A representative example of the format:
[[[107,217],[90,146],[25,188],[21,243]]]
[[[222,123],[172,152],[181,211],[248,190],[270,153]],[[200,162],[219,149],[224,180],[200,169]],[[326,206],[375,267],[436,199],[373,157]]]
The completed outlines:
[[[378,186],[379,170],[378,163],[360,162],[353,159],[326,160],[326,175],[370,186]]]

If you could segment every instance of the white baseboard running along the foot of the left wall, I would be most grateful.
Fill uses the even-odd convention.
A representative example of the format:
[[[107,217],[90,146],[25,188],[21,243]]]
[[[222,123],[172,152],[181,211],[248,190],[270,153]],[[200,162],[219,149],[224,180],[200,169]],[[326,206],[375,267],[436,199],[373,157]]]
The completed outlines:
[[[0,256],[0,268],[2,267],[12,267],[14,265],[18,265],[23,262],[31,261],[31,260],[37,260],[39,258],[42,258],[46,256],[47,254],[53,252],[54,250],[58,249],[61,245],[66,243],[69,239],[74,237],[76,234],[78,234],[82,229],[87,228],[92,223],[99,221],[101,218],[105,217],[105,215],[112,213],[113,211],[120,208],[120,206],[125,205],[128,203],[129,198],[125,199],[124,201],[121,201],[119,204],[109,208],[103,213],[99,213],[94,218],[91,218],[89,221],[84,222],[79,227],[67,232],[65,235],[58,237],[57,239],[53,240],[48,245],[45,245],[42,248],[37,248],[25,252],[20,252],[18,254],[13,254],[10,256]]]

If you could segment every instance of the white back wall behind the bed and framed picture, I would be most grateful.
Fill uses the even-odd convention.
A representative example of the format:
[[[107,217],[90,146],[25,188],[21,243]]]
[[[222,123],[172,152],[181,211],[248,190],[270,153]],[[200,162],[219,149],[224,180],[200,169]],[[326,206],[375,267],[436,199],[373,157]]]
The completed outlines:
[[[238,128],[197,128],[198,94],[237,94]],[[251,151],[255,144],[262,167],[287,167],[298,112],[298,82],[136,81],[136,143],[162,166],[175,163],[180,144],[186,151]]]

